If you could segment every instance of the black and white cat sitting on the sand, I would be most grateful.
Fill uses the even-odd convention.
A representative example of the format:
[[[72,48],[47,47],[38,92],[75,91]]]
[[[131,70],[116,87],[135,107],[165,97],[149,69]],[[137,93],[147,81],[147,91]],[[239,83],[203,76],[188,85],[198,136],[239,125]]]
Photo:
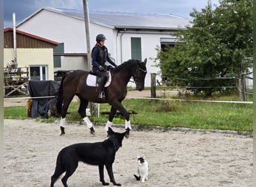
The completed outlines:
[[[138,176],[134,175],[136,180],[141,180],[141,183],[144,183],[145,180],[148,180],[148,163],[145,160],[145,156],[137,156],[138,158]]]

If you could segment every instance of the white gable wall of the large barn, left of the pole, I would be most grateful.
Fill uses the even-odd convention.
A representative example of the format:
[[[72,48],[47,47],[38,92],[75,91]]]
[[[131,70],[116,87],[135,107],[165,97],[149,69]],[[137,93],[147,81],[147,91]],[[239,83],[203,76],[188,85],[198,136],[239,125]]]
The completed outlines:
[[[43,10],[28,22],[19,25],[17,29],[58,43],[65,43],[66,53],[86,52],[85,24],[79,19]]]

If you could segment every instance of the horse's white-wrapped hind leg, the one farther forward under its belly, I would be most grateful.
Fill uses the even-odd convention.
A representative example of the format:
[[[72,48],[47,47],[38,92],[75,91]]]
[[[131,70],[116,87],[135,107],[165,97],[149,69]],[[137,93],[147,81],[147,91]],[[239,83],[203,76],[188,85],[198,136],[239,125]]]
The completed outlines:
[[[80,105],[79,105],[79,114],[82,117],[82,119],[85,121],[87,124],[88,128],[90,129],[90,132],[92,135],[94,135],[95,130],[93,123],[91,123],[91,120],[86,116],[86,108],[88,106],[88,100],[84,99],[82,96],[79,96],[80,99]]]

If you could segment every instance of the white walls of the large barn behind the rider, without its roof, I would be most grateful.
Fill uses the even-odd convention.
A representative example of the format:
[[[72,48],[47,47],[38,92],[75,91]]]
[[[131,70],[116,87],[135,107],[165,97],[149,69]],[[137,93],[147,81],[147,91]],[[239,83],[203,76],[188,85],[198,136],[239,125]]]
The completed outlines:
[[[49,19],[51,17],[51,19]],[[42,26],[43,25],[43,26]],[[27,31],[31,34],[36,34],[40,37],[46,37],[49,40],[55,40],[59,43],[64,43],[64,52],[87,52],[85,42],[85,23],[80,19],[75,19],[69,16],[64,16],[60,13],[53,13],[49,10],[43,10],[34,15],[28,22],[22,23],[18,27],[21,31]],[[145,86],[150,86],[150,73],[157,73],[156,79],[161,81],[160,70],[156,67],[153,58],[156,58],[156,46],[160,46],[160,38],[172,38],[171,34],[165,32],[156,32],[151,34],[124,32],[118,33],[117,30],[110,26],[103,26],[91,23],[91,48],[95,45],[95,37],[97,34],[103,33],[106,35],[106,46],[111,53],[112,58],[115,58],[117,64],[121,64],[131,58],[131,37],[141,37],[141,56],[142,61],[147,58],[147,76]],[[65,57],[67,58],[67,57]],[[63,59],[62,66],[66,70],[68,67],[67,61],[71,59]],[[73,61],[73,60],[72,60]],[[76,61],[76,59],[74,59]],[[81,67],[79,67],[82,64]],[[76,64],[77,69],[85,70],[84,64],[79,60]],[[130,86],[134,84],[129,83]]]

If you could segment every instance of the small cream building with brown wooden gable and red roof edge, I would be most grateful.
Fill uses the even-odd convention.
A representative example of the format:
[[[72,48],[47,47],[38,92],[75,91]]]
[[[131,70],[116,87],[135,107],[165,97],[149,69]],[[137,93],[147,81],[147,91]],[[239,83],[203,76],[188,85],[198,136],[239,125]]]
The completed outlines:
[[[16,49],[13,48],[13,28],[4,28],[4,67],[13,66],[16,51],[16,67],[28,68],[28,78],[54,79],[53,49],[58,42],[16,30]],[[34,75],[34,76],[33,76]]]

